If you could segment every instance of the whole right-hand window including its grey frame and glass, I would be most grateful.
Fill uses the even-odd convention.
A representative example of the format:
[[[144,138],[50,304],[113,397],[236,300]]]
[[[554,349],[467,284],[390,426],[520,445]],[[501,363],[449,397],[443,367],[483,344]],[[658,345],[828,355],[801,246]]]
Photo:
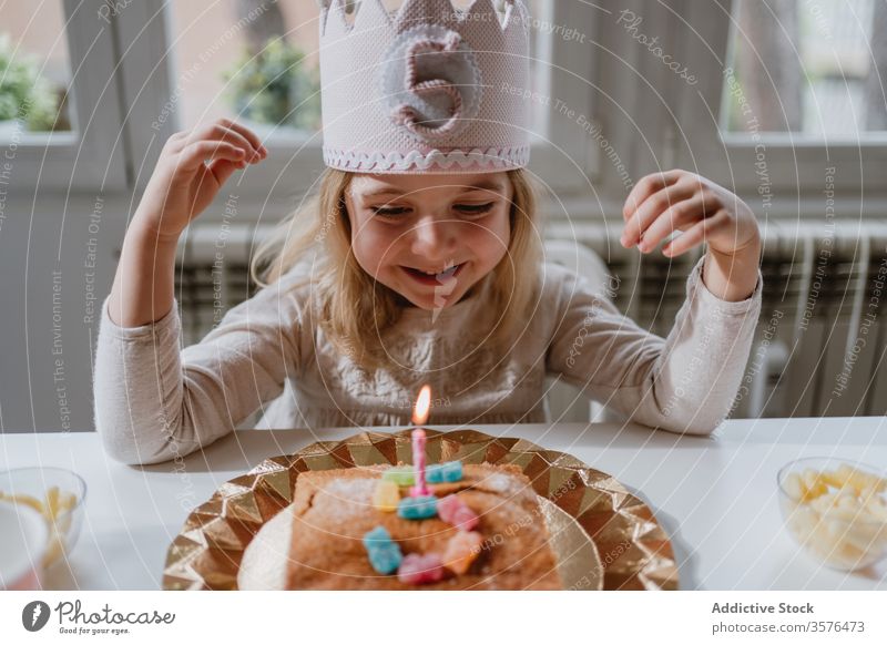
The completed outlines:
[[[826,188],[847,197],[845,215],[881,216],[869,209],[887,193],[884,3],[682,6],[669,29],[699,83],[666,90],[674,165],[704,170],[761,218],[822,215]]]

